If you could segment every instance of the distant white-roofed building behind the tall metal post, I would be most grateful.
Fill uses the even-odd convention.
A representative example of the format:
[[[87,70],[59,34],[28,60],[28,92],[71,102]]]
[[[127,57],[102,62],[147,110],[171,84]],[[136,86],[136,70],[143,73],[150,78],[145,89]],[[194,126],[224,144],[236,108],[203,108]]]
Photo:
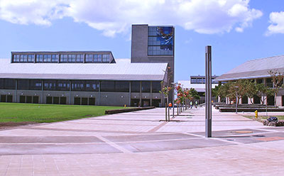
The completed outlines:
[[[216,75],[212,76],[212,88],[218,86],[218,82],[214,80],[216,77]],[[181,80],[178,83],[182,84],[182,87],[185,89],[194,88],[200,96],[199,104],[205,102],[205,76],[190,76],[190,81]],[[215,97],[212,97],[212,100],[216,101]]]

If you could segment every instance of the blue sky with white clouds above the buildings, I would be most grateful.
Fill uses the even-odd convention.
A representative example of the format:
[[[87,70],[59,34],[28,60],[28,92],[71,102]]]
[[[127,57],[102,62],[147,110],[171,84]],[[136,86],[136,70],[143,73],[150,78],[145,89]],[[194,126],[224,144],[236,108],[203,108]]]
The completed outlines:
[[[282,0],[0,0],[0,58],[15,50],[111,50],[130,58],[131,24],[175,26],[175,81],[284,55]]]

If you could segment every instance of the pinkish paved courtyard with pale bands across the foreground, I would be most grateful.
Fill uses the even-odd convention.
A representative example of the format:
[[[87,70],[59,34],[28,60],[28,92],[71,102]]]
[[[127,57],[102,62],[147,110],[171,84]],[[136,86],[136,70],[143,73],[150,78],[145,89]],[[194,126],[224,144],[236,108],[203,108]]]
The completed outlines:
[[[0,131],[0,175],[283,175],[284,128],[204,108],[165,109]]]

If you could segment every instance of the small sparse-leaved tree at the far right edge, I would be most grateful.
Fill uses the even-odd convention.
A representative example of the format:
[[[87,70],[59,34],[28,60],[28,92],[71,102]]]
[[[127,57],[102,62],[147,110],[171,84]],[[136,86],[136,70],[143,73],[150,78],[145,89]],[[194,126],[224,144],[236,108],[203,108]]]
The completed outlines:
[[[278,70],[270,70],[268,74],[271,75],[273,82],[273,92],[274,92],[274,105],[276,106],[276,97],[280,89],[283,88],[284,72],[279,72]]]

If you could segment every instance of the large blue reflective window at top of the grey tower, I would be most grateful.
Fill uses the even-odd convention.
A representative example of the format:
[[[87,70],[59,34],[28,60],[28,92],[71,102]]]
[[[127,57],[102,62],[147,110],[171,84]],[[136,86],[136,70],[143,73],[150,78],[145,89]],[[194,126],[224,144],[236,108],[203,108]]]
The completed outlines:
[[[148,27],[148,55],[173,55],[173,27]]]

